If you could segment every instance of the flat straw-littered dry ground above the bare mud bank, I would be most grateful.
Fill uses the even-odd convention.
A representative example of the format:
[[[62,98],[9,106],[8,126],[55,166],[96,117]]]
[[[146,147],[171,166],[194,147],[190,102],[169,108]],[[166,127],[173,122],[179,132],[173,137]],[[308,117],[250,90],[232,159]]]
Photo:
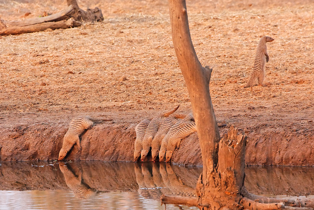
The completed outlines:
[[[308,117],[314,101],[314,1],[246,2],[187,2],[198,58],[214,67],[210,90],[218,117],[230,118],[229,122],[234,116],[257,122],[265,116],[293,120],[296,111],[299,118]],[[165,1],[78,3],[82,8],[99,6],[105,21],[1,37],[3,115],[169,110],[178,103],[190,108]],[[60,0],[33,4],[0,0],[5,20],[64,7]],[[268,43],[268,87],[244,89],[263,35],[275,39]],[[248,106],[267,109],[246,113]]]

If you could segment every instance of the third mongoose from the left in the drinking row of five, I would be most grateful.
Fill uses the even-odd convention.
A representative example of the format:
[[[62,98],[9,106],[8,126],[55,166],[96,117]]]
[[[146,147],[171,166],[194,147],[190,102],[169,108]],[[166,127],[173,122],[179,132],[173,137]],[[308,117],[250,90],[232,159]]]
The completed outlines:
[[[158,131],[152,141],[152,161],[155,161],[159,155],[162,139],[165,137],[169,129],[178,121],[179,121],[178,118],[171,116],[165,118],[164,121],[160,124]]]

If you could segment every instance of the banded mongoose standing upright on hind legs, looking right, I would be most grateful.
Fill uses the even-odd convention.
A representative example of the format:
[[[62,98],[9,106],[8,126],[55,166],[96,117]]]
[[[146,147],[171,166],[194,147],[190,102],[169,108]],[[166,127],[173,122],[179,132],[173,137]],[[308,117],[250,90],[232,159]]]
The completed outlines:
[[[256,50],[256,56],[255,56],[255,61],[254,61],[254,66],[253,66],[253,71],[251,74],[251,77],[249,81],[247,82],[245,88],[251,87],[254,84],[254,80],[257,77],[258,79],[258,84],[260,86],[265,86],[263,84],[264,80],[264,67],[265,64],[268,63],[269,56],[267,54],[267,42],[272,42],[274,39],[271,37],[266,37],[263,36],[257,45],[257,50]]]

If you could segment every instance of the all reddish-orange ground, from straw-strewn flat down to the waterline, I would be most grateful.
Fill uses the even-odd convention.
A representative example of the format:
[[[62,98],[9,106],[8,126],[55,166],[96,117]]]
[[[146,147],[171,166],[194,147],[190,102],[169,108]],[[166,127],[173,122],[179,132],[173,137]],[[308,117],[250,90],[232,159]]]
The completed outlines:
[[[171,42],[165,1],[79,1],[104,22],[0,37],[0,160],[53,160],[74,116],[108,116],[82,136],[67,159],[130,161],[134,125],[191,109]],[[65,1],[1,1],[1,18],[56,13]],[[187,1],[198,58],[213,67],[210,90],[218,122],[248,135],[248,165],[314,165],[314,1]],[[29,14],[30,13],[30,14]],[[244,88],[263,35],[267,87]],[[228,128],[221,129],[221,134]],[[176,163],[199,165],[196,134]]]

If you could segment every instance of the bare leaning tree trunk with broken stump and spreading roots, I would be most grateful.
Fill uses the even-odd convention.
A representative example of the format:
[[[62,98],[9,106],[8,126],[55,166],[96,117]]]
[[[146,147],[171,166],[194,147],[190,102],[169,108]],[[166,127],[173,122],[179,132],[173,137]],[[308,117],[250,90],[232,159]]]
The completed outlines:
[[[212,69],[200,64],[195,53],[187,19],[185,0],[169,0],[173,45],[187,84],[198,139],[201,146],[203,173],[196,186],[197,198],[160,197],[161,203],[197,206],[200,209],[312,209],[313,201],[275,199],[250,194],[244,188],[245,133],[237,134],[231,126],[220,140],[209,94]],[[302,205],[301,205],[302,204]],[[285,206],[286,205],[286,206]],[[288,207],[297,206],[298,207]]]

